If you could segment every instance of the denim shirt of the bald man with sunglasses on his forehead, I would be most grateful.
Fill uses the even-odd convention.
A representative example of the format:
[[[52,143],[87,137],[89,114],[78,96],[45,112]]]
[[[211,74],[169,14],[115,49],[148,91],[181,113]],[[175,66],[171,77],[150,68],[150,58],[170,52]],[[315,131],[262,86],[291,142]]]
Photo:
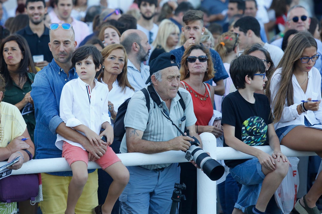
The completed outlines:
[[[62,150],[55,146],[56,128],[63,121],[59,117],[59,101],[66,82],[78,77],[75,68],[67,74],[53,59],[39,71],[31,85],[31,96],[35,107],[36,127],[34,144],[36,159],[61,158]],[[94,170],[89,170],[93,172]],[[52,172],[51,175],[72,176],[71,171]]]

